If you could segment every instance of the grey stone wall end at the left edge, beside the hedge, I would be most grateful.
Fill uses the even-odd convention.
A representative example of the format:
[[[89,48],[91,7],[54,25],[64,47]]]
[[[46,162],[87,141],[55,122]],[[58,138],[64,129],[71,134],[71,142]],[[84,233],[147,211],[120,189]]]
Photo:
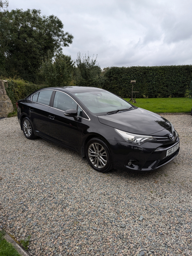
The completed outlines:
[[[14,110],[13,104],[5,91],[5,86],[7,88],[7,81],[0,80],[0,117],[7,117]]]

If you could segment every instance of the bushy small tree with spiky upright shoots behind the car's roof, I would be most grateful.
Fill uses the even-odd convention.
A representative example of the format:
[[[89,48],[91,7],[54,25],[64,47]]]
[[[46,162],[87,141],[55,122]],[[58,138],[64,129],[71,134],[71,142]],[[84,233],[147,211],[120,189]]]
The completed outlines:
[[[100,84],[100,75],[101,68],[97,63],[97,55],[94,59],[94,55],[91,58],[89,56],[81,56],[79,52],[77,54],[76,65],[78,69],[76,70],[76,80],[78,85],[82,86],[99,86]]]

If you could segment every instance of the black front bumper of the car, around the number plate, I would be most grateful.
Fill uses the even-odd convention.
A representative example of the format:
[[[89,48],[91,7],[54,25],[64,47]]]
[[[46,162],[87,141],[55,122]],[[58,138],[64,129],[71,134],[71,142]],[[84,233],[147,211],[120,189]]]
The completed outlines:
[[[179,137],[176,137],[174,142],[147,142],[141,146],[114,140],[110,140],[108,143],[113,157],[114,168],[132,172],[154,171],[172,161],[180,150],[179,147],[173,154],[166,156],[167,150],[179,143]]]

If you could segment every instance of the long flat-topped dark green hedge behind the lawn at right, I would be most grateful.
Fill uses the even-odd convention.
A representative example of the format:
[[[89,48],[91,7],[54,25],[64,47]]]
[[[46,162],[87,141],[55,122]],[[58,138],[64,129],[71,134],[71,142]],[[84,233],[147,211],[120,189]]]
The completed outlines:
[[[105,72],[103,89],[123,98],[138,91],[137,98],[187,97],[192,80],[192,65],[110,67]]]

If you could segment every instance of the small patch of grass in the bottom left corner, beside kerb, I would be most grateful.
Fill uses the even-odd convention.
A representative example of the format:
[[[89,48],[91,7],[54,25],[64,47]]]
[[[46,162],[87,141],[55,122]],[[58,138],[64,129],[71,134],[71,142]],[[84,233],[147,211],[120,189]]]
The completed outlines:
[[[4,239],[5,232],[0,231],[0,256],[20,256],[11,243]]]

